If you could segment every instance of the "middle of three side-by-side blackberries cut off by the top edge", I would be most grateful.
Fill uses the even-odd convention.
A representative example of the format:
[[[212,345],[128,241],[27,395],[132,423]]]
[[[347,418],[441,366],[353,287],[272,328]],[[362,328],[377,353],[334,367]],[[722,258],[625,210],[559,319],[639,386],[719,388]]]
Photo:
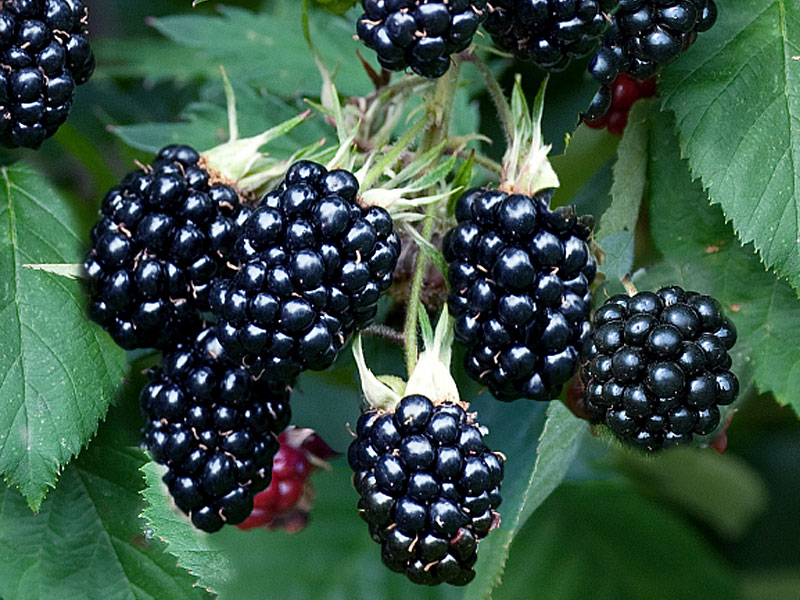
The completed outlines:
[[[548,71],[587,56],[617,0],[493,0],[483,28],[501,49]]]

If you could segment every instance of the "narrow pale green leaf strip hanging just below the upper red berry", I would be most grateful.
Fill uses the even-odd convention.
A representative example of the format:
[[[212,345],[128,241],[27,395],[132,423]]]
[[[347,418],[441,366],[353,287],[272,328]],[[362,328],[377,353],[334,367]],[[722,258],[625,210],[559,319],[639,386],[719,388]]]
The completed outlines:
[[[600,218],[598,239],[621,231],[631,234],[636,231],[639,207],[647,184],[648,104],[637,102],[633,107],[625,127],[625,135],[617,147],[611,206]]]

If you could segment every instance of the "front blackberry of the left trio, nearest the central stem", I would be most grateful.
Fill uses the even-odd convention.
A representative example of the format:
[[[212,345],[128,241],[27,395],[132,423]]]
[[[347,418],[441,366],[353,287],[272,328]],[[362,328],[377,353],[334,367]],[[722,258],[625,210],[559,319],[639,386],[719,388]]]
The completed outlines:
[[[236,242],[239,272],[211,297],[229,359],[288,381],[329,367],[374,320],[400,241],[389,213],[357,194],[351,173],[300,161],[264,197]]]

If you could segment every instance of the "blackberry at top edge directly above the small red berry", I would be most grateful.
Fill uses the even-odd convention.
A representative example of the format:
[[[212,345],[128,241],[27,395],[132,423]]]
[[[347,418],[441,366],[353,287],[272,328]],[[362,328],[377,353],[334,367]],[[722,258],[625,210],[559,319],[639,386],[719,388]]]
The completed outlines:
[[[714,0],[620,0],[602,45],[589,63],[589,72],[602,87],[587,119],[599,119],[608,111],[610,86],[620,73],[638,81],[653,77],[716,20]]]

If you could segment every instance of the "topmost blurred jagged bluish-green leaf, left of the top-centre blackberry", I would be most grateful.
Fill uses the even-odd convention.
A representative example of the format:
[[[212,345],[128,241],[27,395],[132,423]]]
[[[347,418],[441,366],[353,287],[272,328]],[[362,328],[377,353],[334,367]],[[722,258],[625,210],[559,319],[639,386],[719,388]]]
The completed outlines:
[[[302,2],[269,4],[268,11],[258,13],[221,6],[219,16],[190,13],[153,19],[150,23],[174,43],[148,38],[126,46],[111,42],[111,64],[105,72],[185,80],[208,77],[223,65],[232,77],[283,97],[318,95],[322,80],[303,37]],[[314,12],[312,40],[334,71],[337,87],[348,95],[368,92],[371,84],[356,56],[362,46],[353,39],[353,23],[325,10]]]

